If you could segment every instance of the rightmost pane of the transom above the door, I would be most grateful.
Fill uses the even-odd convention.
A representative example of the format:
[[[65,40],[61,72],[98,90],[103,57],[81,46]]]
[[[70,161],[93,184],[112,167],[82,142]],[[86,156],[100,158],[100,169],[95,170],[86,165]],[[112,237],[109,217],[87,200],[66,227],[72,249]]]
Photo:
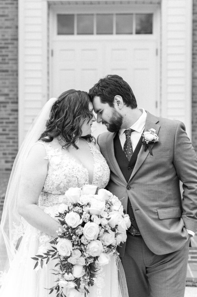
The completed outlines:
[[[136,14],[136,34],[153,34],[153,14]]]

